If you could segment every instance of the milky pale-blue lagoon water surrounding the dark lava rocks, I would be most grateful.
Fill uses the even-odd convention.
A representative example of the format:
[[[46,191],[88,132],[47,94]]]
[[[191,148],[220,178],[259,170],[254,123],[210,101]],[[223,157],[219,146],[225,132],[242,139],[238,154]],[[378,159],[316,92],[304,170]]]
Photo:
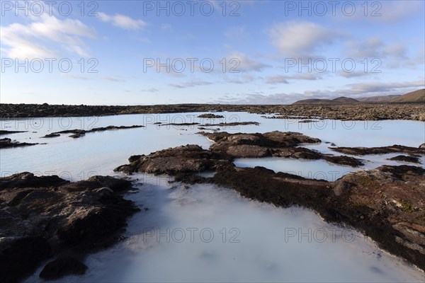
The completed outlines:
[[[47,143],[1,149],[1,175],[30,171],[57,174],[73,181],[96,174],[123,176],[114,173],[113,168],[127,163],[133,154],[149,154],[184,144],[199,144],[208,149],[212,142],[196,134],[197,126],[153,125],[154,122],[200,122],[196,118],[198,114],[1,120],[0,129],[29,131],[2,137]],[[214,122],[261,123],[227,127],[227,132],[302,132],[337,146],[419,146],[425,139],[424,122],[353,124],[327,120],[324,126],[264,119],[249,113],[216,114],[225,115],[225,119]],[[89,133],[79,139],[69,138],[68,134],[40,139],[62,129],[108,125],[145,125],[146,128]],[[336,154],[328,146],[323,142],[307,147]],[[390,156],[394,154],[361,156],[366,163],[363,168],[401,164],[386,161]],[[424,161],[424,156],[421,159]],[[322,172],[327,173],[327,180],[353,171],[326,161],[283,158],[238,159],[235,163],[264,166],[307,178],[323,178]],[[59,282],[424,282],[424,272],[383,252],[361,233],[327,224],[308,209],[282,209],[246,200],[232,190],[214,185],[185,187],[168,183],[171,179],[166,176],[136,174],[132,178],[138,180],[138,185],[135,192],[127,195],[128,199],[149,210],[135,214],[128,221],[125,241],[86,258],[89,266],[86,275],[65,277]],[[39,272],[27,282],[40,282]]]

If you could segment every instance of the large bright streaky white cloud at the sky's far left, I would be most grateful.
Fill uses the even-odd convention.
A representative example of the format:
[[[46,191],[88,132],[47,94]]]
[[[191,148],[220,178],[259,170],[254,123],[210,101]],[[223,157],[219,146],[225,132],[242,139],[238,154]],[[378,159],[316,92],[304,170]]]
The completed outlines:
[[[31,19],[35,21],[27,25],[12,23],[0,27],[2,50],[6,56],[22,59],[57,57],[60,52],[52,44],[81,57],[89,56],[89,48],[81,38],[96,38],[94,29],[69,18],[60,20],[55,16],[41,16]]]

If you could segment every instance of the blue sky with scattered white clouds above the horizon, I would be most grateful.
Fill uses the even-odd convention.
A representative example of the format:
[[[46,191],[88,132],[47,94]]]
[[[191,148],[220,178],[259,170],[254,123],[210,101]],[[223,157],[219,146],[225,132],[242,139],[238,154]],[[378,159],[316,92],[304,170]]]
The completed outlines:
[[[0,103],[288,104],[425,85],[425,1],[1,1]]]

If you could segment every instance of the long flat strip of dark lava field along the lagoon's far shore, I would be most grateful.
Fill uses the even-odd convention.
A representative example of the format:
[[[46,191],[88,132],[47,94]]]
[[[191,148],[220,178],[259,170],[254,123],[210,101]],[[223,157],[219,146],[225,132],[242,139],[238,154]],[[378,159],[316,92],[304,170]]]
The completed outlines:
[[[425,121],[424,103],[356,103],[343,105],[48,105],[0,103],[0,117],[79,117],[183,112],[251,112],[273,119],[324,117],[334,120],[419,120]],[[204,116],[213,117],[213,116]]]

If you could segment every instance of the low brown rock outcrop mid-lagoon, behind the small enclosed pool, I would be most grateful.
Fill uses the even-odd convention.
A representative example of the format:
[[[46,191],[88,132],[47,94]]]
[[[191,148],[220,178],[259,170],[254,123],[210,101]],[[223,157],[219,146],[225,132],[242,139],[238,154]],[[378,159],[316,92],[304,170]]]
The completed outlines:
[[[229,165],[234,158],[276,156],[284,158],[320,159],[348,166],[361,166],[358,159],[348,156],[324,156],[318,151],[298,147],[299,144],[317,143],[319,139],[294,132],[268,132],[265,134],[229,134],[227,132],[201,133],[215,141],[210,150],[191,144],[164,149],[147,156],[131,156],[130,164],[115,168],[125,173],[155,174],[193,173]]]

